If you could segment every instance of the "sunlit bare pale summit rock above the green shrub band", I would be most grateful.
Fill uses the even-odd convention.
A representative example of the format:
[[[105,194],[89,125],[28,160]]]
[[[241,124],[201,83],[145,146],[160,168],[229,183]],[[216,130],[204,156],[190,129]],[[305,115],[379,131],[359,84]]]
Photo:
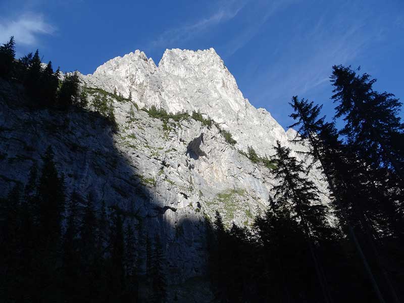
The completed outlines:
[[[82,76],[88,86],[117,89],[140,107],[155,105],[176,113],[200,111],[230,130],[237,147],[253,146],[264,156],[276,140],[287,144],[286,133],[264,109],[254,108],[214,48],[203,51],[166,49],[158,66],[136,50]]]

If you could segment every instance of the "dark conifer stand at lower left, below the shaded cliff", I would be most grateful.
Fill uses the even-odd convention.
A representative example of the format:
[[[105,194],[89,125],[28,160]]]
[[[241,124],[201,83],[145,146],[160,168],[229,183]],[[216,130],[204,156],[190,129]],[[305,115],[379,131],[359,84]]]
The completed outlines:
[[[4,302],[149,302],[166,296],[159,238],[92,194],[67,195],[49,147],[39,170],[0,199],[0,297]],[[148,246],[145,256],[139,251]],[[146,260],[142,260],[146,259]],[[146,272],[140,270],[147,263]],[[143,295],[144,296],[144,295]]]

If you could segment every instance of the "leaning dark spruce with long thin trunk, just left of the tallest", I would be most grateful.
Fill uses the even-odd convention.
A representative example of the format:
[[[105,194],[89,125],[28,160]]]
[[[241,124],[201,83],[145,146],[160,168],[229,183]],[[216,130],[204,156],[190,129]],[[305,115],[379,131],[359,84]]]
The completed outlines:
[[[298,135],[293,141],[309,141],[310,150],[307,154],[311,157],[312,164],[317,161],[320,163],[320,168],[323,169],[331,193],[334,195],[341,223],[347,227],[379,300],[384,301],[375,279],[375,270],[371,268],[366,251],[363,249],[364,245],[360,243],[357,235],[365,234],[368,241],[374,242],[367,217],[385,217],[380,214],[380,201],[383,200],[380,198],[381,193],[379,190],[375,191],[369,178],[369,170],[362,165],[355,152],[338,139],[334,124],[325,123],[324,117],[319,118],[322,106],[314,105],[305,99],[298,100],[297,96],[292,98],[290,105],[294,110],[290,116],[297,120],[292,127],[299,126]],[[373,247],[371,255],[378,256],[375,245],[370,246]],[[381,262],[378,263],[381,267]]]

